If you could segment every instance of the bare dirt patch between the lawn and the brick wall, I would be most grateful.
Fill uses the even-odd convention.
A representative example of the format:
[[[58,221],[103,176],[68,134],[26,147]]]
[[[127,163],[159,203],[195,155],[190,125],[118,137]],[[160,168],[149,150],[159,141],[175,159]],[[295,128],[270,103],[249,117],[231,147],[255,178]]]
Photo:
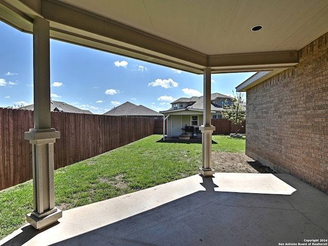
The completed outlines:
[[[245,154],[231,152],[212,152],[212,168],[216,172],[275,173]]]

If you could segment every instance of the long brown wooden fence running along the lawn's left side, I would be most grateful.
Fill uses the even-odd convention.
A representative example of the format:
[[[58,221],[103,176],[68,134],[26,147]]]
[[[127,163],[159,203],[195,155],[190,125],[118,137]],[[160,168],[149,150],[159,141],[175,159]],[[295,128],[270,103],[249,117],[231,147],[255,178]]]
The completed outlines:
[[[60,131],[55,169],[150,136],[154,125],[150,118],[51,112],[51,127]],[[0,108],[0,190],[32,178],[32,146],[24,139],[29,128],[33,111]]]

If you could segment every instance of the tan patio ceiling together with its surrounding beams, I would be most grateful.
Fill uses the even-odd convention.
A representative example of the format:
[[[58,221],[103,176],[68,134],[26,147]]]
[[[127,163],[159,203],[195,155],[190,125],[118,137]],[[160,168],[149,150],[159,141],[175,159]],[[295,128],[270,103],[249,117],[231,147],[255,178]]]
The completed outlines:
[[[328,31],[326,0],[0,0],[19,30],[36,16],[54,39],[196,74],[290,68]]]

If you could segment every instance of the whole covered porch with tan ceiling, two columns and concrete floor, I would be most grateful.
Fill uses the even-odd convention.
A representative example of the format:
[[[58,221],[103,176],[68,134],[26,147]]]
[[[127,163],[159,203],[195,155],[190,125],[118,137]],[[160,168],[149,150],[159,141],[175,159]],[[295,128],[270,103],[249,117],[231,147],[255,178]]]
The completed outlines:
[[[297,51],[328,31],[326,1],[0,0],[0,13],[33,34],[35,117],[25,139],[33,146],[34,210],[27,219],[40,230],[27,226],[1,243],[278,245],[327,238],[327,196],[291,175],[278,174],[297,189],[292,194],[252,191],[261,183],[243,185],[251,194],[216,190],[224,181],[211,168],[210,107],[214,73],[271,76],[294,68]],[[63,213],[55,208],[53,145],[65,136],[50,124],[50,38],[203,75],[202,176]]]

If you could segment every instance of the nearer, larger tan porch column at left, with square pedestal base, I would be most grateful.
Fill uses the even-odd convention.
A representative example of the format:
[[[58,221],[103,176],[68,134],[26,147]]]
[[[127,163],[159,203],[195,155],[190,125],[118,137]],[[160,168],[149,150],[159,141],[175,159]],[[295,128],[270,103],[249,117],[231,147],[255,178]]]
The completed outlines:
[[[53,144],[60,132],[51,128],[50,118],[50,31],[49,21],[33,21],[34,128],[25,132],[32,144],[33,211],[27,221],[36,229],[57,222],[61,211],[54,202]]]

